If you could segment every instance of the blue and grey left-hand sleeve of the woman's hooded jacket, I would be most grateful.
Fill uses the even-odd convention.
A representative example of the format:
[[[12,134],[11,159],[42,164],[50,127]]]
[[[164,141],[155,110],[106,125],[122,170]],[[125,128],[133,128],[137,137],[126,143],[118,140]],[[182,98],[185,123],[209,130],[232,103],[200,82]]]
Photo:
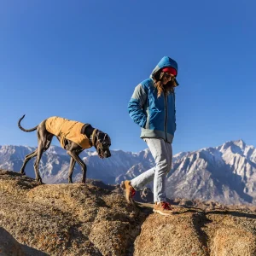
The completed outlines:
[[[142,128],[145,127],[147,122],[147,116],[143,113],[143,105],[147,101],[147,97],[147,91],[143,84],[138,84],[128,103],[128,111],[131,119]]]

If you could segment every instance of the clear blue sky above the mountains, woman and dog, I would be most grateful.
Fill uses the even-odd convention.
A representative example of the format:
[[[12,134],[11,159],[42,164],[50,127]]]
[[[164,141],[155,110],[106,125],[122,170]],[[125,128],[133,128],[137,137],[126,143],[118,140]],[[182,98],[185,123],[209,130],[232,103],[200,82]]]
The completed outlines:
[[[179,66],[174,153],[243,139],[256,146],[256,2],[1,1],[0,144],[49,116],[88,122],[138,152],[127,103],[164,55]],[[54,144],[58,144],[55,140]]]

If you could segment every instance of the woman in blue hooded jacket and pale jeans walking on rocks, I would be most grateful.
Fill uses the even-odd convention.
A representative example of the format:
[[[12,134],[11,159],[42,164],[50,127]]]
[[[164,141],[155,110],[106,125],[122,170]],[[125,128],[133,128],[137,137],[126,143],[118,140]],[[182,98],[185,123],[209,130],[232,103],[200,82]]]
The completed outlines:
[[[154,212],[162,215],[172,214],[166,202],[166,175],[172,168],[172,139],[176,131],[176,76],[177,62],[163,57],[150,78],[137,85],[128,104],[131,119],[142,127],[141,138],[148,144],[155,166],[131,181],[125,180],[121,187],[126,201],[133,203],[135,191],[154,180]]]

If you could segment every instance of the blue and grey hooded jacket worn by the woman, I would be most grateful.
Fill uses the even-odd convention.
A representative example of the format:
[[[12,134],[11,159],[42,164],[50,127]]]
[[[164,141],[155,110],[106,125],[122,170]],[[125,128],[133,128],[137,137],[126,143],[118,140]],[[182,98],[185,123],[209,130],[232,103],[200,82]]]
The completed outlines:
[[[157,97],[154,87],[154,74],[163,67],[174,67],[177,62],[170,57],[163,57],[154,68],[149,79],[144,80],[135,88],[128,104],[131,119],[142,127],[141,137],[163,138],[172,143],[176,131],[175,95],[162,93]]]

